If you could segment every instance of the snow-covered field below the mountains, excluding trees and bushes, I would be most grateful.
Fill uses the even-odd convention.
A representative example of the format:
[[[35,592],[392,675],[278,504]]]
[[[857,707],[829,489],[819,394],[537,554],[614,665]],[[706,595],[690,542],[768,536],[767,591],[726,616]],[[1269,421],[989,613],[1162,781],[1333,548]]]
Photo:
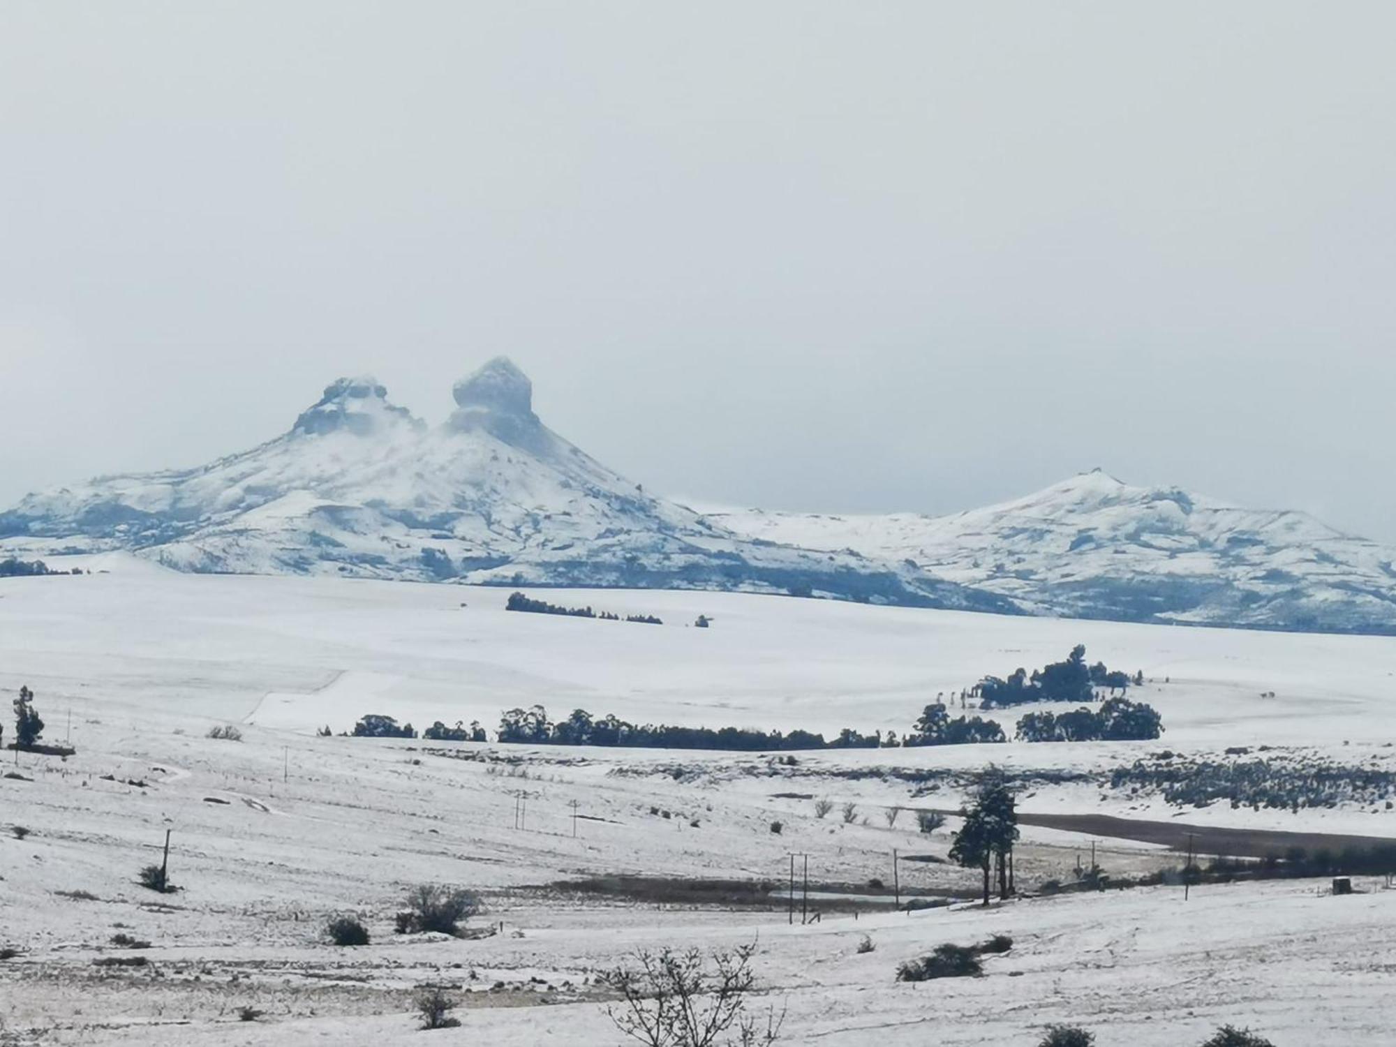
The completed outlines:
[[[1100,1047],[1199,1043],[1223,1022],[1254,1025],[1279,1047],[1389,1041],[1396,892],[1379,881],[1349,898],[1318,881],[1203,886],[1187,903],[1180,889],[1145,888],[856,921],[831,912],[808,927],[762,906],[543,888],[613,874],[778,884],[790,853],[810,856],[818,884],[891,882],[893,847],[944,857],[948,836],[919,835],[909,814],[889,826],[886,810],[955,807],[958,794],[948,785],[913,797],[879,766],[967,771],[993,758],[1106,771],[1163,745],[1272,745],[1396,771],[1396,641],[733,593],[535,593],[658,614],[656,627],[505,613],[507,589],[183,575],[124,556],[85,565],[110,572],[0,581],[0,690],[32,687],[45,738],[78,750],[67,761],[21,754],[6,768],[21,778],[0,779],[0,948],[20,951],[0,960],[0,1043],[609,1046],[621,1039],[599,970],[637,948],[752,938],[766,998],[787,1008],[785,1043],[1034,1044],[1065,1020],[1096,1030]],[[698,614],[712,628],[692,628]],[[314,734],[370,712],[419,729],[493,727],[503,709],[533,704],[554,718],[585,708],[902,733],[938,692],[1057,660],[1078,642],[1092,660],[1143,670],[1150,683],[1131,697],[1163,713],[1161,741],[801,752],[789,768],[757,754]],[[1000,715],[1009,730],[1015,718]],[[207,738],[219,723],[239,725],[243,741]],[[819,819],[811,796],[854,803],[859,815]],[[1079,782],[1036,789],[1022,808],[1180,814]],[[1185,821],[1396,836],[1382,805],[1216,804]],[[13,825],[31,832],[17,839]],[[181,891],[159,896],[134,875],[158,860],[166,829]],[[1086,847],[1026,829],[1019,882],[1068,878]],[[1177,864],[1121,840],[1097,853],[1115,874]],[[974,879],[924,861],[903,861],[900,875],[924,892]],[[489,912],[472,923],[503,933],[394,935],[402,893],[427,881],[483,891]],[[325,917],[345,909],[364,914],[370,946],[324,941]],[[123,953],[106,945],[121,927],[151,941],[149,966],[95,967]],[[893,981],[909,956],[993,933],[1015,945],[984,979]],[[856,952],[863,934],[875,951]],[[459,987],[459,1029],[415,1032],[410,997],[423,983]],[[239,1022],[243,1005],[267,1013]]]

